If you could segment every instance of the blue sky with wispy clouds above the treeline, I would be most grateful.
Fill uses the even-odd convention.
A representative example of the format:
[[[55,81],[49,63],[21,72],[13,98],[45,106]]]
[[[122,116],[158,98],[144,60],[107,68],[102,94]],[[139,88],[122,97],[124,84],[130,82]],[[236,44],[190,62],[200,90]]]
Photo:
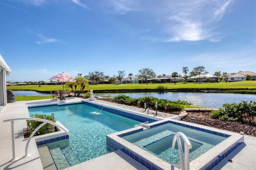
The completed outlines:
[[[255,0],[1,0],[7,81],[124,70],[256,72]]]

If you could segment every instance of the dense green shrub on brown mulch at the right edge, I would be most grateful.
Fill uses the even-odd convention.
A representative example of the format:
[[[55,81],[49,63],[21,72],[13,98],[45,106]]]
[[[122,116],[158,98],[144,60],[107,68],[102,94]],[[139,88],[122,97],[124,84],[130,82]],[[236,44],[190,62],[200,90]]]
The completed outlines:
[[[223,108],[212,111],[211,117],[222,121],[242,122],[249,119],[251,122],[256,117],[256,102],[241,101],[240,103],[224,103]]]

